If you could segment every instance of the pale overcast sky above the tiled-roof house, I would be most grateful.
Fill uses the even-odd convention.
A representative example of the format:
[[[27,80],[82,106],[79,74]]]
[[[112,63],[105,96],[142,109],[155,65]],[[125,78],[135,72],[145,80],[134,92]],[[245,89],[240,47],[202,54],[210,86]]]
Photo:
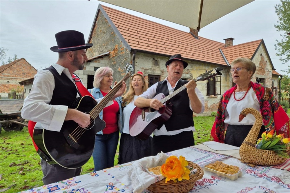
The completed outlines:
[[[37,70],[49,67],[58,57],[49,49],[57,45],[54,35],[77,30],[84,33],[87,41],[99,3],[189,32],[188,27],[97,0],[0,0],[0,47],[8,49],[4,61],[17,54]],[[275,39],[280,40],[280,32],[274,27],[278,21],[274,6],[278,3],[279,0],[255,0],[200,29],[199,36],[223,43],[223,39],[232,37],[234,45],[264,39],[276,71],[285,74],[281,70],[287,69],[290,62],[282,64],[274,46]]]

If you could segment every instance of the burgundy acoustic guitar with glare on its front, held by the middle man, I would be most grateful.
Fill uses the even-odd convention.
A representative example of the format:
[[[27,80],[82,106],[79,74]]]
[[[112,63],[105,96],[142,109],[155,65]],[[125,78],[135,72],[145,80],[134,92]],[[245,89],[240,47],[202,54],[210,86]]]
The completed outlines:
[[[197,78],[193,79],[196,81],[204,81],[216,75],[222,75],[220,72],[222,67],[214,68],[206,73],[200,74]],[[175,90],[172,94],[167,97],[163,93],[157,94],[153,99],[158,99],[164,104],[159,110],[155,110],[151,107],[138,108],[135,107],[131,113],[129,121],[129,133],[131,136],[135,136],[140,140],[146,140],[158,127],[162,126],[172,114],[171,105],[167,105],[166,101],[186,89],[183,85],[179,89]]]

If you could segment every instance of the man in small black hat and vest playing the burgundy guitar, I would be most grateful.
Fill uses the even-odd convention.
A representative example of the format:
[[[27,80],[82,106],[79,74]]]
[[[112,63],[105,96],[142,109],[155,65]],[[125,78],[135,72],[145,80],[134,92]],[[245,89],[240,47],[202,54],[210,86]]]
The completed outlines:
[[[196,88],[195,81],[181,79],[183,69],[187,65],[180,54],[172,56],[165,64],[168,76],[164,81],[152,85],[134,102],[139,108],[150,106],[159,110],[163,104],[153,97],[160,93],[168,96],[183,85],[187,88],[167,101],[167,105],[172,105],[172,115],[164,125],[160,125],[153,132],[153,155],[161,151],[166,153],[194,145],[193,112],[204,112],[204,97]]]

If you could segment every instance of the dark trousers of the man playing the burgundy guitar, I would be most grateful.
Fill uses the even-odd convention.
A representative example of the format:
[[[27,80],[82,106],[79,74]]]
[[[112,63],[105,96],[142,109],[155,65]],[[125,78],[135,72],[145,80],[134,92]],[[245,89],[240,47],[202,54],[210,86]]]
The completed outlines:
[[[184,131],[176,135],[158,135],[152,138],[152,153],[157,155],[161,151],[163,153],[187,148],[194,145],[192,131]]]

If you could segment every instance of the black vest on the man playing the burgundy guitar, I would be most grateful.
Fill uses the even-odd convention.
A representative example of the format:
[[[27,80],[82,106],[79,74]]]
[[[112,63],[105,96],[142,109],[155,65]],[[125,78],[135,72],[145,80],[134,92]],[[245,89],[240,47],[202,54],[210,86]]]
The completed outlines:
[[[162,84],[161,83],[162,81],[158,82],[158,85],[156,88],[156,95],[163,93],[165,96],[168,96],[169,91],[167,88],[166,81],[164,81]],[[180,79],[174,91],[186,83],[188,83],[188,81],[184,81]],[[167,101],[167,103],[172,104],[172,115],[168,119],[168,121],[166,121],[164,124],[167,131],[175,131],[175,130],[188,128],[190,126],[194,126],[193,112],[189,108],[189,97],[186,92],[186,89],[181,91],[174,97],[172,97],[170,100]]]

